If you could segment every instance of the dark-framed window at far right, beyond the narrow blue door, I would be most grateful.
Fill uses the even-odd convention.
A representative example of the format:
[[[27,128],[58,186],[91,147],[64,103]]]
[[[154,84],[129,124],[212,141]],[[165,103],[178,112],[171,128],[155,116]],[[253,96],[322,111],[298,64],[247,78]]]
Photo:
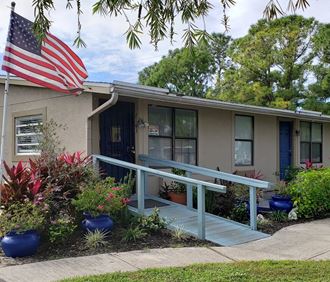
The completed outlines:
[[[322,162],[322,124],[300,122],[300,162]]]

